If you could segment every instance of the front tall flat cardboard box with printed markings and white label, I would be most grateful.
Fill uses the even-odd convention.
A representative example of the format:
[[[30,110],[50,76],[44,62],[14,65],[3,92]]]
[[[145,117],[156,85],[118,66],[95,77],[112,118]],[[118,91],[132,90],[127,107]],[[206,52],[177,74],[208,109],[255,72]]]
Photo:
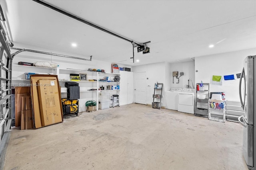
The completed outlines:
[[[37,84],[42,126],[62,122],[62,107],[57,80],[39,79]]]

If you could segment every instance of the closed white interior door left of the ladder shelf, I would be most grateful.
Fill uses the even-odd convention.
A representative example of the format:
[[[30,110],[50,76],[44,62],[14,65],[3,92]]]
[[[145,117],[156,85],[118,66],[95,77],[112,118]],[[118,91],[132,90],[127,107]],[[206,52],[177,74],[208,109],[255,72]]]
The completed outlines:
[[[134,73],[134,103],[146,104],[146,72]]]

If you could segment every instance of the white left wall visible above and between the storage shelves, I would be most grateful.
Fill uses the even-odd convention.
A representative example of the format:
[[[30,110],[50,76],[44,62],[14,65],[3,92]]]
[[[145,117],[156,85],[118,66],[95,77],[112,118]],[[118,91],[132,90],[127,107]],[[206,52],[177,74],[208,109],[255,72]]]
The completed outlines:
[[[44,49],[37,49],[37,50],[47,51],[47,52],[49,51]],[[12,53],[14,52],[15,51],[13,50]],[[80,57],[80,58],[84,57],[84,56],[77,56],[72,54],[64,54],[58,51],[51,51],[51,53],[57,53],[61,55],[70,55],[70,56]],[[59,68],[62,68],[62,69],[72,68],[72,69],[78,69],[78,70],[87,70],[88,68],[95,68],[95,69],[103,69],[107,73],[112,72],[112,63],[96,61],[93,59],[93,57],[92,57],[92,61],[85,61],[85,60],[79,60],[79,59],[70,59],[66,57],[58,57],[54,55],[52,56],[52,55],[44,55],[44,54],[31,53],[31,52],[22,52],[14,57],[13,64],[18,64],[18,62],[20,61],[28,62],[28,63],[35,63],[36,61],[52,61],[54,63],[57,63],[59,65]],[[118,66],[131,68],[130,66],[125,66],[120,64],[118,64]],[[22,69],[23,67],[15,67],[15,68]],[[16,77],[19,75],[24,75],[24,72],[28,72],[28,70],[14,70],[12,74],[12,79],[16,79]],[[35,70],[34,72],[38,72],[38,70]],[[125,77],[123,77],[123,79],[125,80]],[[121,81],[122,81],[122,77],[121,77]],[[64,82],[60,82],[60,86],[64,87]],[[80,84],[80,86],[90,86],[90,84]],[[122,93],[122,89],[125,90],[124,87],[123,88],[120,87],[120,93]],[[79,111],[86,111],[85,103],[88,100],[96,100],[97,95],[98,94],[96,94],[96,92],[80,93]],[[66,94],[62,94],[62,98],[65,98],[65,97],[66,97]]]

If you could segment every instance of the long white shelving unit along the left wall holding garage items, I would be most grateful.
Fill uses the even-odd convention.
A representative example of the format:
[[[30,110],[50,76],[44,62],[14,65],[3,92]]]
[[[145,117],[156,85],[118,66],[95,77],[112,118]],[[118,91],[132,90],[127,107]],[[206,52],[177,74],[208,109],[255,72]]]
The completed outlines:
[[[80,111],[85,111],[85,103],[88,100],[95,100],[97,102],[97,110],[99,103],[99,93],[109,93],[119,94],[120,89],[107,89],[107,85],[119,85],[120,82],[114,82],[115,76],[120,76],[120,74],[113,73],[102,73],[86,70],[76,70],[76,69],[63,69],[63,68],[46,68],[46,67],[36,67],[36,66],[23,66],[18,64],[13,64],[12,71],[12,86],[30,86],[30,80],[26,80],[25,73],[33,72],[37,74],[56,74],[58,75],[62,98],[66,98],[67,89],[65,87],[65,82],[77,82],[80,86],[80,99],[79,99],[79,109]],[[81,81],[71,81],[70,74],[86,74],[87,80]],[[99,81],[99,79],[108,76],[110,77],[110,82]],[[94,81],[89,81],[94,80]],[[99,87],[104,86],[104,90],[99,90]],[[95,90],[92,90],[95,89]]]

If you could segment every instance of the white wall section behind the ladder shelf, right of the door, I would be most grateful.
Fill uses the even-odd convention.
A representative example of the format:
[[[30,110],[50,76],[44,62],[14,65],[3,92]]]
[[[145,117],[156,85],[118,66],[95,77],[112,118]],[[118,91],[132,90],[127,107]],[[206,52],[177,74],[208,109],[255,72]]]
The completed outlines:
[[[133,72],[146,72],[147,75],[147,101],[146,104],[152,104],[154,94],[154,84],[157,81],[158,83],[163,83],[164,88],[163,98],[161,100],[161,106],[165,107],[165,91],[166,91],[166,63],[154,63],[154,64],[145,64],[141,66],[133,66]]]

